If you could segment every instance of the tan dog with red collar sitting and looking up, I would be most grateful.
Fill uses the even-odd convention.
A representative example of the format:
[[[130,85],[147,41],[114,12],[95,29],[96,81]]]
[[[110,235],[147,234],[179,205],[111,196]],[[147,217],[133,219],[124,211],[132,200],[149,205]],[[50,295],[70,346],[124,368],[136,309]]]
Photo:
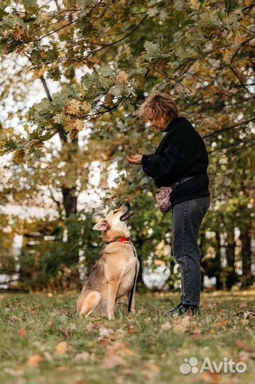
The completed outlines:
[[[130,204],[111,210],[104,220],[94,225],[102,230],[104,245],[99,260],[77,299],[77,313],[92,312],[114,318],[116,299],[127,294],[129,311],[135,313],[135,289],[139,260],[130,238],[128,221],[134,216]]]

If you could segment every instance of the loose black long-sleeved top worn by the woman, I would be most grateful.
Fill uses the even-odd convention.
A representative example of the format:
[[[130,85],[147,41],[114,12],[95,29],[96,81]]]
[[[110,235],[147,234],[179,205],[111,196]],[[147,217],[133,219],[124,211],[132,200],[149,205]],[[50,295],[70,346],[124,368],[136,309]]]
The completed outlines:
[[[208,154],[200,134],[185,117],[168,124],[155,154],[143,155],[143,171],[155,185],[171,186],[185,176],[196,176],[178,186],[170,195],[172,205],[192,198],[210,196],[207,176]]]

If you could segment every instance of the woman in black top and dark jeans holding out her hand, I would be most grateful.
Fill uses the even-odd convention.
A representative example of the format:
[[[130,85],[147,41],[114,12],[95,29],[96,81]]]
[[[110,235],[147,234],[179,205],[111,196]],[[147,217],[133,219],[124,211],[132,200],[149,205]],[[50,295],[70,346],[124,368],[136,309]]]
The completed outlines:
[[[166,132],[155,154],[126,156],[132,165],[142,165],[155,185],[170,186],[172,203],[173,257],[180,265],[182,295],[170,316],[200,312],[200,249],[197,238],[202,219],[210,207],[208,154],[200,134],[168,92],[153,92],[137,111],[153,129]],[[187,180],[186,180],[187,178]]]

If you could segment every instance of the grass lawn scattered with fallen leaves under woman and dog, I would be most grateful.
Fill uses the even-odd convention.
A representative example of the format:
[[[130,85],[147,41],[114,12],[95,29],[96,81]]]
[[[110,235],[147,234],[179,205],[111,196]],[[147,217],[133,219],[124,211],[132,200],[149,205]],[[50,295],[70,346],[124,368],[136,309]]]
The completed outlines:
[[[136,316],[120,304],[108,321],[77,316],[76,292],[1,294],[0,383],[254,384],[255,292],[202,293],[199,316],[168,319],[179,298],[137,295]],[[192,357],[195,373],[180,373]],[[210,372],[207,364],[200,372],[206,357],[217,366],[242,361],[246,371]]]

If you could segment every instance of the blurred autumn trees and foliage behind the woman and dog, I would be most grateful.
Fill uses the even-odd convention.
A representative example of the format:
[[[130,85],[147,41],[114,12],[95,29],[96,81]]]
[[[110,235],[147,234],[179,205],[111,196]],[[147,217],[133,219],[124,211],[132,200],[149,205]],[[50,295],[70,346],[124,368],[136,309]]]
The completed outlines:
[[[124,160],[162,139],[134,114],[154,90],[210,156],[202,289],[254,284],[254,8],[216,3],[2,1],[1,289],[80,289],[102,248],[92,226],[129,201],[139,289],[180,290],[171,214]]]

